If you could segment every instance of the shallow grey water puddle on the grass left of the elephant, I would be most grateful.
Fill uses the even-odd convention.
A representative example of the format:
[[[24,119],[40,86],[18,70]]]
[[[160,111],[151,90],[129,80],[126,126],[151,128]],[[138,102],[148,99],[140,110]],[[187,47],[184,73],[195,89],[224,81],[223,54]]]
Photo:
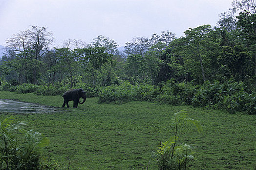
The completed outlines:
[[[0,112],[49,113],[54,111],[54,107],[46,107],[35,103],[26,103],[8,99],[0,99]]]

